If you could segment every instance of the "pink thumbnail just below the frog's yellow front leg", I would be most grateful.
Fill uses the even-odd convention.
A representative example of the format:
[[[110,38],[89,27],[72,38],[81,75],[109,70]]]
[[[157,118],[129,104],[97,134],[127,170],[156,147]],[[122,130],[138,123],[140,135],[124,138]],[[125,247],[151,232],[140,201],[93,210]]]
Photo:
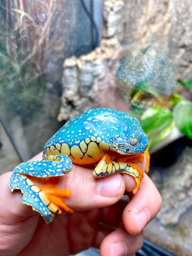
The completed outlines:
[[[119,194],[121,183],[120,175],[101,178],[98,182],[98,194],[102,197],[116,197]]]

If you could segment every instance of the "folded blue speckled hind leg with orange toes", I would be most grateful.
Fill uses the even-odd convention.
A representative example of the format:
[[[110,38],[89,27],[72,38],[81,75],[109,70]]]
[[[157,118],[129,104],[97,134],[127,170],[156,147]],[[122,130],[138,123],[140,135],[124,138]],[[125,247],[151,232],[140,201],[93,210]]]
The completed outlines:
[[[70,197],[70,191],[60,190],[55,185],[55,177],[71,172],[72,162],[66,155],[49,155],[45,159],[19,164],[13,170],[9,186],[11,191],[20,189],[23,193],[22,203],[32,206],[49,223],[55,214],[73,212],[63,201],[64,197]],[[49,179],[39,188],[32,177]]]

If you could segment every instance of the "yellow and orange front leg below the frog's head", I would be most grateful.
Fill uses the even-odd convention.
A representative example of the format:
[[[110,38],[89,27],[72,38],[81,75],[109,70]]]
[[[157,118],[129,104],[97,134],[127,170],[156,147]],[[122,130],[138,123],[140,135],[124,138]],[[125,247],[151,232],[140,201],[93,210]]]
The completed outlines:
[[[94,177],[104,177],[113,173],[126,173],[135,178],[136,187],[132,191],[136,194],[140,187],[140,181],[143,179],[143,170],[137,165],[137,162],[144,161],[144,154],[120,155],[116,152],[107,152],[93,171]]]

